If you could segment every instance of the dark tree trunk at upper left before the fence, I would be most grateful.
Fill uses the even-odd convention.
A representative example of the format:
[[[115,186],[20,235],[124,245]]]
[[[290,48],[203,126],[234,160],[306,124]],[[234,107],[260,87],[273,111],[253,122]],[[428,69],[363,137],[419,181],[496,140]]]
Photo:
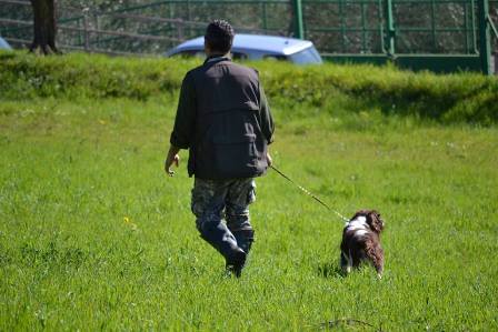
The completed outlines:
[[[30,52],[60,53],[56,47],[56,0],[31,0],[33,8],[33,42]]]

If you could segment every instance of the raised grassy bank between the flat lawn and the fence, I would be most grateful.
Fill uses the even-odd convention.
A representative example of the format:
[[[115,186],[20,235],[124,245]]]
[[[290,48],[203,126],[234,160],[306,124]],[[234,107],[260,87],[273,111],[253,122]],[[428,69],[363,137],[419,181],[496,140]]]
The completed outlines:
[[[148,100],[178,92],[185,73],[200,60],[109,58],[90,54],[37,57],[0,52],[0,99],[130,98]],[[476,73],[436,76],[394,67],[296,67],[255,62],[270,103],[289,114],[380,109],[440,122],[498,122],[498,79]]]

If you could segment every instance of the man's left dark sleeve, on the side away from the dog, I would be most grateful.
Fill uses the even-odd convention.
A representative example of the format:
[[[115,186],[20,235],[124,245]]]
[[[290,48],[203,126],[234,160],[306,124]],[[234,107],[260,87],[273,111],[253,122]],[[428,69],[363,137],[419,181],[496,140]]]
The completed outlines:
[[[180,149],[191,147],[196,130],[196,90],[193,80],[189,73],[181,83],[178,101],[177,117],[171,132],[170,143]]]

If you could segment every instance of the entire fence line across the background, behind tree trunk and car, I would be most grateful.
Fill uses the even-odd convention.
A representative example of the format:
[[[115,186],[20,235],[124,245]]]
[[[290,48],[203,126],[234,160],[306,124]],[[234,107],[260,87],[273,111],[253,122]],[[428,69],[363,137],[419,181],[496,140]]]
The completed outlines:
[[[498,51],[491,24],[498,21],[498,0],[128,1],[132,2],[137,4],[78,10],[59,0],[59,41],[76,49],[161,53],[202,34],[211,19],[225,18],[239,32],[310,39],[330,61],[489,72],[491,52]],[[29,2],[0,0],[0,34],[29,40],[32,28],[1,18],[26,22],[30,16]]]

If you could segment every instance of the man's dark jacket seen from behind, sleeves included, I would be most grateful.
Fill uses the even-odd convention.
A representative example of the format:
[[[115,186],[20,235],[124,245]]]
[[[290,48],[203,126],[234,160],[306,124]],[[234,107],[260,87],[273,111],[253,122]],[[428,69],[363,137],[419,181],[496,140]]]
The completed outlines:
[[[170,142],[189,149],[189,175],[259,177],[268,169],[273,121],[258,72],[228,58],[208,59],[183,79]]]

